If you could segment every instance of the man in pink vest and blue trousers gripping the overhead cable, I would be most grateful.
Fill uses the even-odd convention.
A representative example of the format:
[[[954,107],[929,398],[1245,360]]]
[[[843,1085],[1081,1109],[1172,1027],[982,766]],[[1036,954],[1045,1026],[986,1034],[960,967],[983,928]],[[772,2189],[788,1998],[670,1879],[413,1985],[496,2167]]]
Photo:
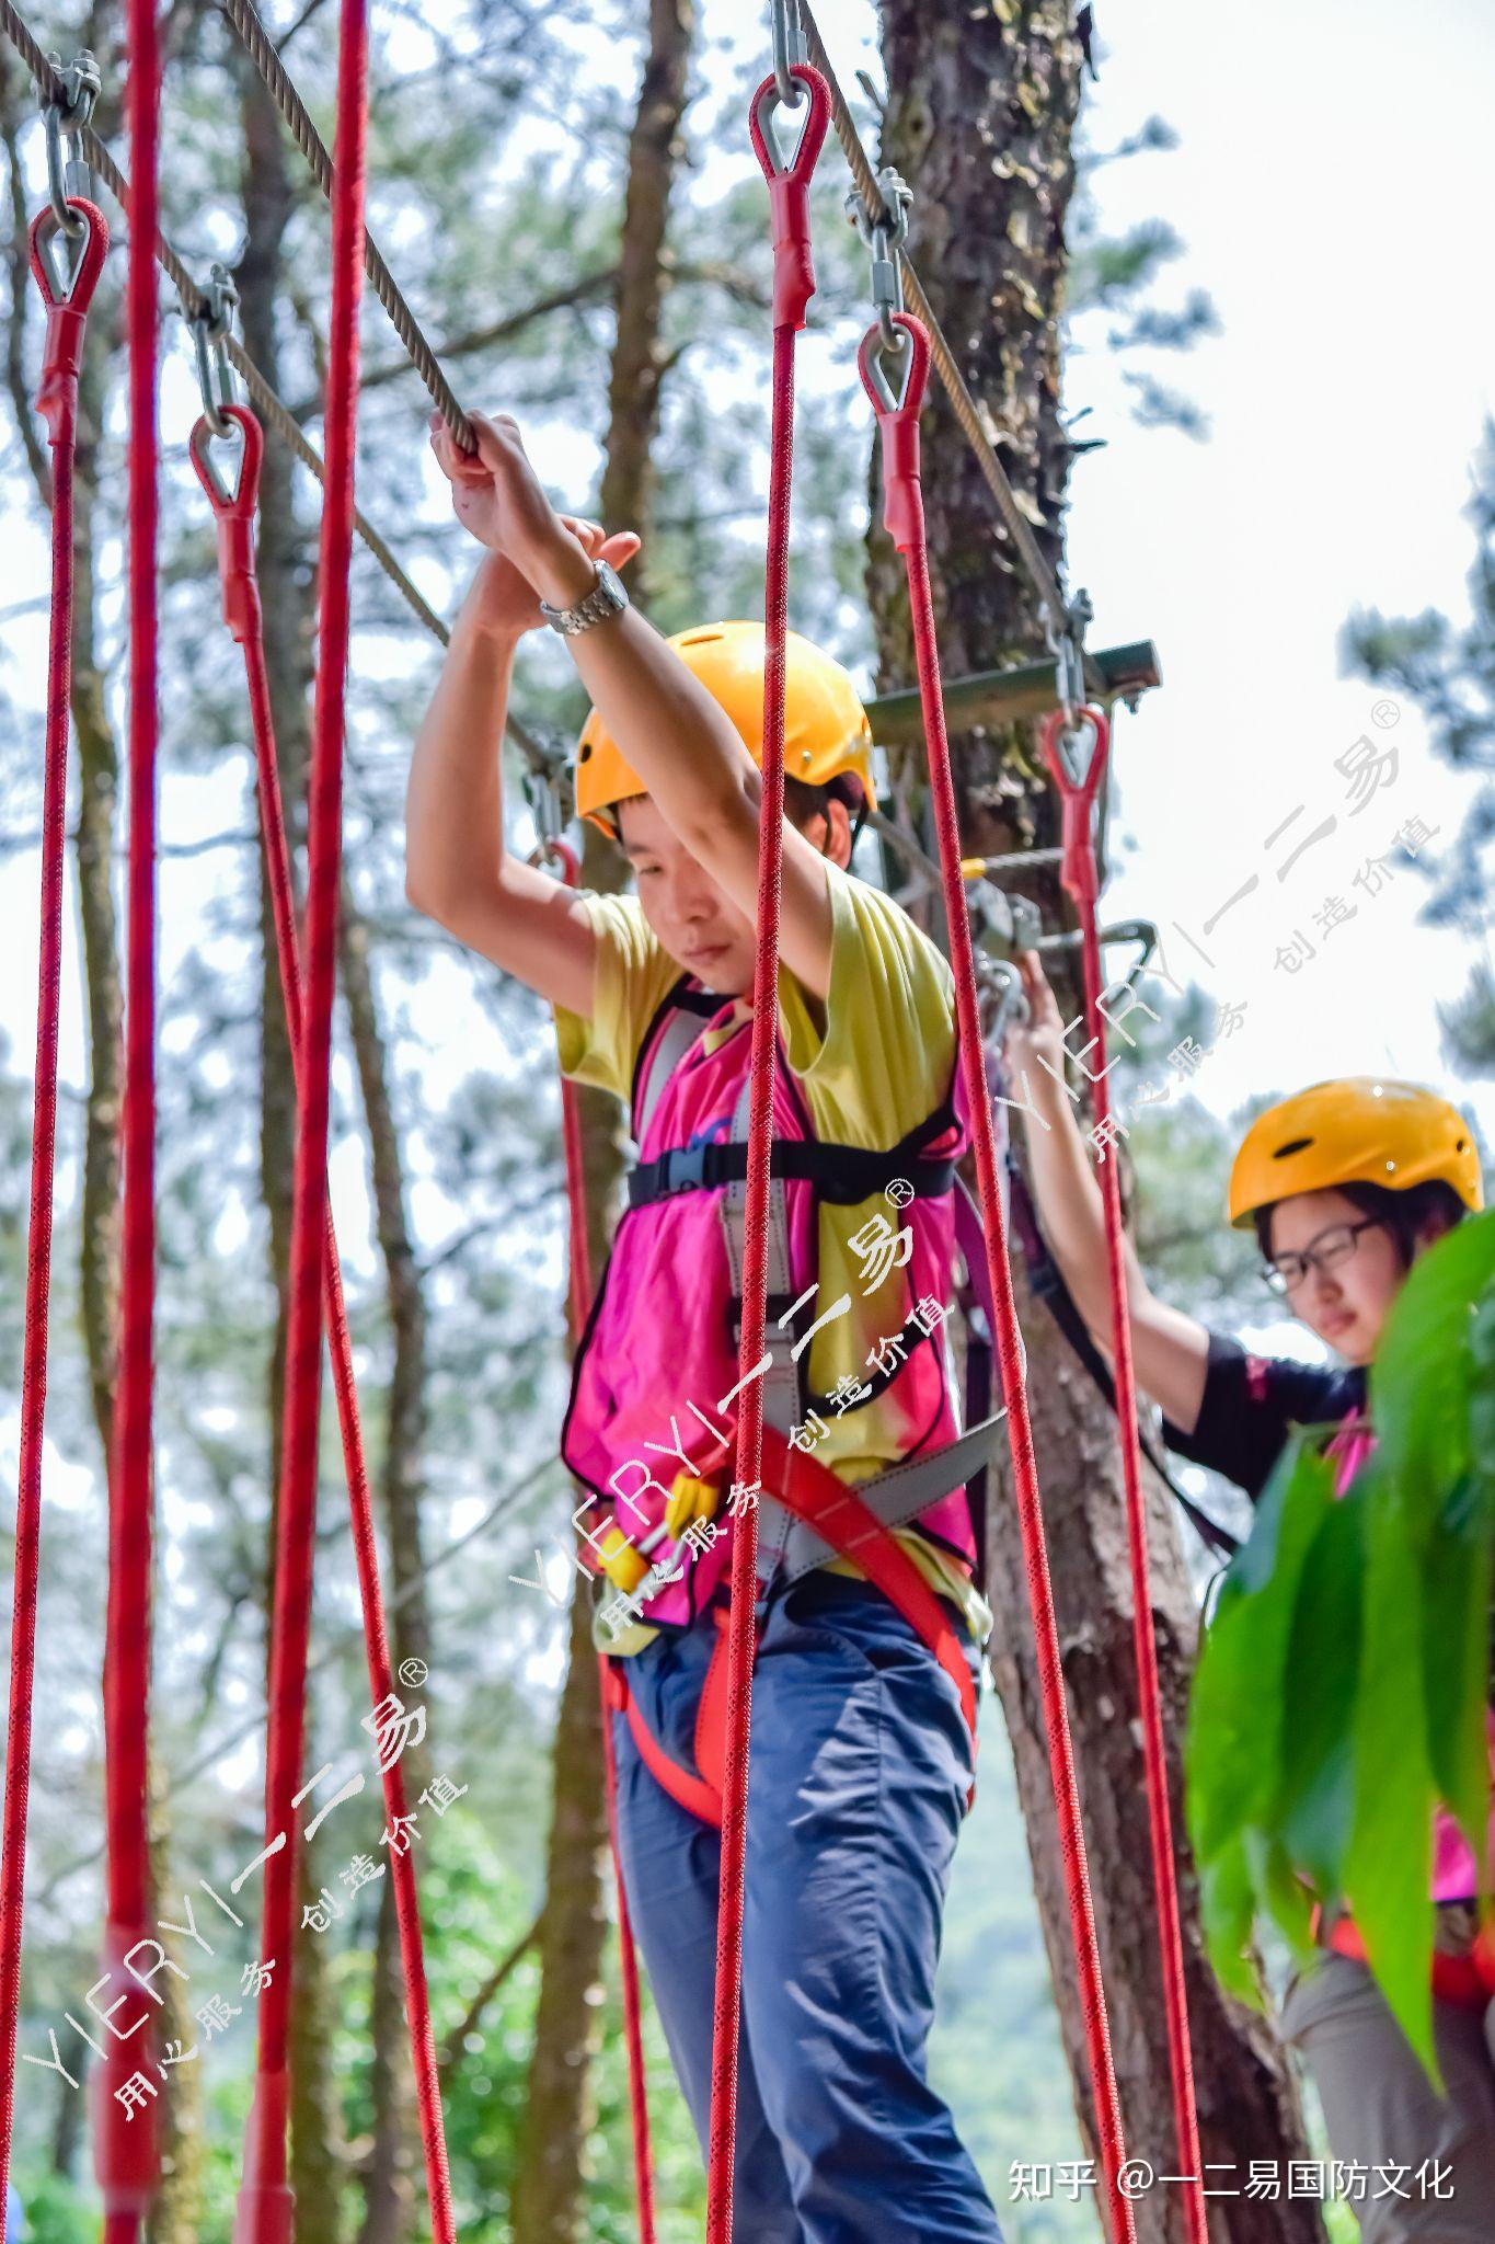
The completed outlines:
[[[758,1501],[731,1486],[719,1434],[737,1389],[764,635],[713,624],[666,642],[616,579],[637,536],[556,514],[516,424],[473,424],[475,458],[433,429],[455,512],[489,552],[415,745],[408,895],[545,996],[563,1070],[632,1109],[641,1160],[578,1349],[563,1454],[587,1490],[587,1571],[605,1573],[594,1634],[610,1654],[628,1912],[706,2148],[713,1710],[733,1519]],[[594,702],[578,810],[619,839],[637,895],[576,893],[504,848],[500,736],[513,651],[540,604]],[[991,1629],[971,1465],[939,1479],[959,1432],[941,1331],[966,1140],[955,994],[935,945],[849,871],[852,819],[872,803],[867,743],[845,671],[791,635],[773,1140],[798,1169],[773,1187],[764,1423],[789,1380],[796,1452],[814,1443],[832,1488],[870,1492],[899,1463],[935,1479],[923,1508],[899,1512],[888,1593],[832,1557],[793,1580],[780,1569],[767,1604],[733,2204],[753,2244],[993,2244],[997,2217],[926,2073],[973,1784],[966,1708]],[[890,1223],[894,1183],[914,1198]],[[932,1625],[910,1622],[919,1600]]]

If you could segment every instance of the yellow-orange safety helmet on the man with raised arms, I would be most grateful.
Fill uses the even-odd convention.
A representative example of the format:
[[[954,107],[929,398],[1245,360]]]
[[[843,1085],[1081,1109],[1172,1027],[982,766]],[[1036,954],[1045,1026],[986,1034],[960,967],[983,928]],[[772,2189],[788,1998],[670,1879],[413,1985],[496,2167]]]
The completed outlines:
[[[742,745],[762,770],[762,624],[699,624],[695,631],[677,631],[668,644],[726,709]],[[876,810],[872,727],[861,696],[838,662],[798,631],[789,631],[784,633],[784,779],[802,779],[818,788],[843,776],[856,779],[867,808]],[[616,741],[594,709],[576,743],[576,812],[603,833],[616,833],[607,812],[630,794],[648,794],[648,788],[623,763]]]

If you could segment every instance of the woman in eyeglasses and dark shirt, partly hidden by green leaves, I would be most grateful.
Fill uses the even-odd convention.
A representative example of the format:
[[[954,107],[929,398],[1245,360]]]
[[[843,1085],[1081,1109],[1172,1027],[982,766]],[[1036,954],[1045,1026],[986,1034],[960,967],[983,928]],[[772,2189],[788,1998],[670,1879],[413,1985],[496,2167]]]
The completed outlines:
[[[1009,1111],[1022,1115],[1049,1252],[1109,1367],[1105,1218],[1065,1088],[1065,1023],[1038,954],[1027,951],[1020,969],[1029,1019],[1006,1032]],[[1255,1355],[1208,1331],[1157,1299],[1127,1243],[1136,1385],[1161,1407],[1168,1447],[1255,1501],[1291,1427],[1334,1423],[1327,1454],[1343,1495],[1374,1443],[1367,1367],[1387,1310],[1417,1257],[1482,1205],[1473,1131],[1432,1091],[1356,1075],[1269,1106],[1235,1156],[1231,1223],[1255,1227],[1266,1281],[1338,1364]],[[1446,2100],[1432,2094],[1349,1919],[1320,1928],[1325,1952],[1293,1977],[1282,2006],[1282,2035],[1313,2073],[1345,2183],[1331,2195],[1349,2199],[1369,2244],[1495,2237],[1495,1955],[1477,1937],[1473,1851],[1443,1811],[1430,1871]]]

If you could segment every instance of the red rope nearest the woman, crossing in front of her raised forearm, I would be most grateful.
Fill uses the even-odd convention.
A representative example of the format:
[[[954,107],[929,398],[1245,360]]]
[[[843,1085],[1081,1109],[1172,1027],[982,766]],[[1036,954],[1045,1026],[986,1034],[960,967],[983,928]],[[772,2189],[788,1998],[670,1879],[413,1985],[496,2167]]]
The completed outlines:
[[[1195,2060],[1188,2040],[1188,1995],[1183,1986],[1183,1934],[1179,1928],[1179,1887],[1172,1856],[1172,1813],[1168,1806],[1168,1753],[1163,1746],[1163,1701],[1157,1672],[1157,1636],[1152,1629],[1152,1591],[1148,1584],[1148,1519],[1143,1512],[1141,1454],[1136,1432],[1136,1376],[1132,1369],[1132,1313],[1127,1306],[1127,1266],[1123,1254],[1125,1225],[1121,1216],[1118,1162],[1105,1158],[1112,1135],[1112,1091],[1105,1059],[1105,1012],[1101,1010],[1101,934],[1096,927],[1096,850],[1092,812],[1109,727],[1101,709],[1083,709],[1080,720],[1094,732],[1094,747],[1083,779],[1065,763],[1062,741],[1069,732],[1065,709],[1044,720],[1042,745],[1065,810],[1065,859],[1060,877],[1080,916],[1085,963],[1085,1050],[1101,1059],[1096,1073],[1085,1068],[1096,1091],[1096,1135],[1101,1138],[1101,1198],[1105,1203],[1105,1261],[1112,1288],[1112,1360],[1116,1364],[1116,1434],[1121,1438],[1121,1472],[1127,1499],[1127,1548],[1132,1557],[1132,1631],[1136,1643],[1136,1690],[1143,1717],[1143,1773],[1148,1784],[1148,1829],[1152,1840],[1152,1892],[1157,1896],[1159,1948],[1163,1964],[1163,2002],[1168,2011],[1168,2073],[1172,2080],[1172,2116],[1179,2145],[1183,2204],[1192,2244],[1206,2244],[1208,2215],[1204,2204],[1204,2168],[1199,2163],[1199,2116],[1195,2109]]]

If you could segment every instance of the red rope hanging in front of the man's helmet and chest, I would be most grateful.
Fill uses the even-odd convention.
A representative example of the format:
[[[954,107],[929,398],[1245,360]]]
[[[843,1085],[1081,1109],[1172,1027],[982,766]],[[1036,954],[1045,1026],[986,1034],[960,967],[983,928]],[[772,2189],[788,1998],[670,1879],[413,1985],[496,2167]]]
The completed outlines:
[[[749,1151],[742,1243],[742,1342],[737,1373],[746,1380],[737,1418],[735,1474],[755,1492],[762,1472],[762,1362],[769,1304],[769,1138],[778,1059],[778,920],[784,857],[784,631],[789,613],[789,491],[793,478],[793,339],[805,325],[816,274],[809,254],[809,180],[832,114],[818,70],[791,67],[807,108],[791,162],[771,139],[778,81],[753,94],[749,128],[769,182],[773,213],[773,435],[769,449],[769,554],[764,577],[762,797],[758,839],[758,958],[753,967],[753,1043]],[[798,103],[796,103],[798,110]],[[737,2033],[742,2022],[742,1885],[746,1860],[749,1721],[758,1600],[758,1503],[740,1499],[733,1535],[731,1618],[726,1627],[726,1753],[722,1771],[722,1901],[717,1912],[717,1981],[711,2042],[711,2134],[706,2161],[706,2244],[731,2244],[733,2145],[737,2127]]]

